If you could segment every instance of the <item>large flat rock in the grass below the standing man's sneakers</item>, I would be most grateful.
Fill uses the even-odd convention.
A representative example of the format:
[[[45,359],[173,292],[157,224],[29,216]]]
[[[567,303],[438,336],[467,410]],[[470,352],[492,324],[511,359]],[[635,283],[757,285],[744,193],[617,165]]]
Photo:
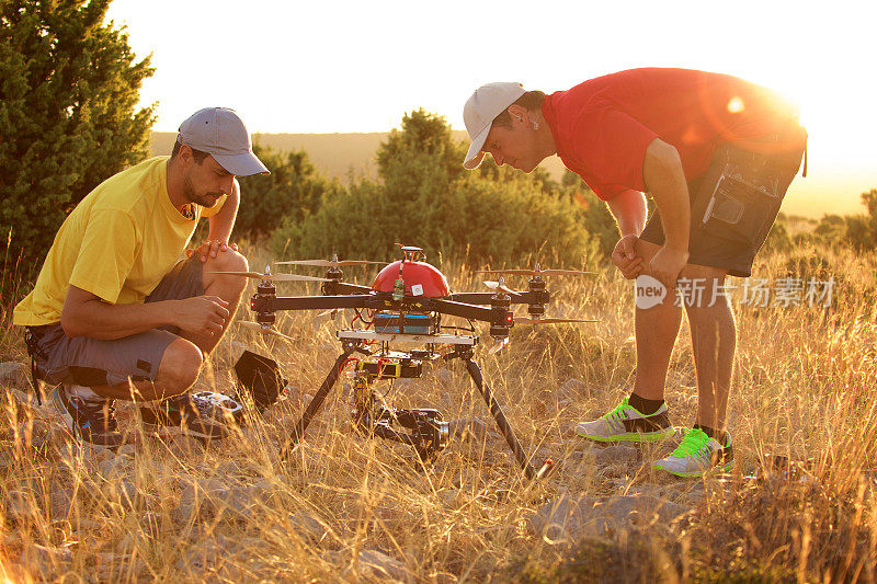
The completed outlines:
[[[650,495],[591,497],[578,500],[562,495],[544,505],[529,519],[534,534],[549,540],[601,537],[610,531],[647,527],[652,523],[670,525],[688,507]]]

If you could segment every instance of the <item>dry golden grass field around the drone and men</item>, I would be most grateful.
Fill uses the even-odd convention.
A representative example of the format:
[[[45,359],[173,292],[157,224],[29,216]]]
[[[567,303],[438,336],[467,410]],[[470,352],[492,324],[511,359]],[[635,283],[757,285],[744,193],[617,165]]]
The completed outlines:
[[[249,255],[253,266],[269,260],[259,250]],[[479,289],[464,266],[444,267],[455,290]],[[293,387],[264,419],[248,417],[232,439],[208,448],[187,437],[138,435],[128,406],[119,419],[134,443],[118,455],[86,456],[65,439],[50,409],[19,400],[19,370],[0,381],[8,390],[0,391],[0,575],[874,582],[875,268],[877,257],[822,249],[760,259],[754,275],[771,282],[833,277],[832,306],[736,304],[729,430],[737,465],[703,480],[651,470],[674,440],[603,447],[571,432],[615,405],[634,378],[631,284],[608,268],[551,287],[549,312],[601,322],[519,325],[502,352],[477,352],[525,449],[557,463],[535,484],[523,480],[459,364],[437,365],[392,390],[398,406],[435,405],[460,421],[434,467],[417,465],[407,446],[360,437],[342,387],[281,465],[278,447],[340,353],[334,330],[348,317],[283,314],[278,329],[295,339],[289,343],[232,327],[196,389],[229,390],[243,348],[277,359]],[[357,279],[368,283],[367,275]],[[4,309],[0,360],[23,364],[20,331],[10,324],[11,306]],[[667,394],[676,425],[694,417],[694,379],[683,323]],[[795,461],[793,471],[774,468],[774,455]]]

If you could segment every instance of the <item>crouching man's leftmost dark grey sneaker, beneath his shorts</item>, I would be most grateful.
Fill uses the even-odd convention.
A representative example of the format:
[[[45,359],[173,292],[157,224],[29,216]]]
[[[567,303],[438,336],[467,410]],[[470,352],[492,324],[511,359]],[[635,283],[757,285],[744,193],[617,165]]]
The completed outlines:
[[[75,386],[56,387],[52,401],[73,437],[94,450],[114,450],[125,444],[116,424],[113,400],[86,400],[71,394],[71,387]]]

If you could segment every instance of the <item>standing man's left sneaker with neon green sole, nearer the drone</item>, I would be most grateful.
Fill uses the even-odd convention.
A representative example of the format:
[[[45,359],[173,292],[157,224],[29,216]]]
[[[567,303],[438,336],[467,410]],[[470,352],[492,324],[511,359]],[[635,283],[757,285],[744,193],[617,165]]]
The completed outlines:
[[[576,424],[576,434],[597,442],[658,442],[675,434],[667,416],[667,404],[646,415],[622,400],[613,411],[593,422]]]

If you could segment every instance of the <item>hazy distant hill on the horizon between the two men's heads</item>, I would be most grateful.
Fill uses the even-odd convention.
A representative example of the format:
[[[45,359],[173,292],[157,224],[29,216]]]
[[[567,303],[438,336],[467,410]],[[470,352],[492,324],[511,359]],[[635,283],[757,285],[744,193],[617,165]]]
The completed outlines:
[[[375,152],[389,136],[387,131],[372,134],[253,134],[253,142],[273,150],[288,152],[305,150],[308,158],[324,176],[338,178],[348,183],[351,172],[355,176],[377,176]],[[175,133],[153,131],[152,156],[170,154]],[[467,141],[464,130],[455,130],[454,138]],[[460,160],[460,164],[463,161]],[[555,179],[563,174],[560,159],[551,157],[543,165]]]

